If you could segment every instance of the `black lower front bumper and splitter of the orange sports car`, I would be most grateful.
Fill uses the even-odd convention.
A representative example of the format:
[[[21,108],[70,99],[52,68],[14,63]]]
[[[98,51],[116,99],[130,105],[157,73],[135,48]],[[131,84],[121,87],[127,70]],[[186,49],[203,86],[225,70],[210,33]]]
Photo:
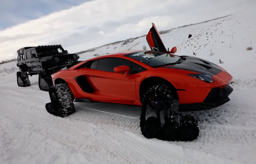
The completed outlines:
[[[182,104],[179,106],[179,112],[188,112],[188,111],[198,111],[198,110],[208,110],[212,108],[219,107],[226,102],[229,102],[228,96],[233,92],[233,88],[230,85],[226,85],[225,88],[221,89],[213,88],[204,99],[202,103],[194,104]]]

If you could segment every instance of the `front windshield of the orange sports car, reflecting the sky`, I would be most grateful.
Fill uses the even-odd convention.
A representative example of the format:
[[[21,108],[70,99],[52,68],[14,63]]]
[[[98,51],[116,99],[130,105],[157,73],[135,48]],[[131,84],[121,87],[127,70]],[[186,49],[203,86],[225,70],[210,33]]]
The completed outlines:
[[[177,62],[181,57],[156,51],[139,51],[125,55],[156,68]]]

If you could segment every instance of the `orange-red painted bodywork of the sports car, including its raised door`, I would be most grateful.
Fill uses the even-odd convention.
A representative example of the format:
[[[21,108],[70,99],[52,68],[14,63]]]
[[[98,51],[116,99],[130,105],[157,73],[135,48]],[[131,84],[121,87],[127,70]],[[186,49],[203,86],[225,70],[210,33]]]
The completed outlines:
[[[157,32],[154,24],[153,24],[153,27],[150,29],[150,32],[146,36],[146,39],[151,47],[151,50],[157,49],[157,50],[161,50],[160,52],[167,53],[166,49],[163,48],[164,47],[163,42],[161,41],[160,35]],[[213,92],[214,89],[215,90],[219,88],[224,89],[233,78],[224,69],[222,69],[221,67],[218,67],[220,69],[219,73],[212,75],[214,82],[208,83],[188,75],[188,74],[200,74],[196,71],[191,71],[190,69],[180,69],[180,67],[171,67],[171,66],[154,68],[141,61],[125,56],[127,54],[131,54],[139,51],[141,50],[118,52],[118,53],[108,54],[105,56],[95,57],[92,59],[88,59],[86,61],[82,61],[76,64],[75,66],[70,67],[69,69],[63,69],[52,74],[53,84],[55,85],[55,82],[57,79],[65,80],[68,84],[68,87],[70,88],[70,92],[74,95],[75,100],[88,99],[92,102],[121,103],[121,104],[127,104],[127,105],[140,106],[141,105],[140,87],[143,80],[149,77],[160,77],[170,82],[170,84],[172,84],[173,87],[176,89],[176,92],[178,93],[180,105],[191,105],[191,104],[197,105],[200,103],[204,103],[207,97],[213,94],[211,92]],[[116,72],[107,72],[107,71],[100,71],[97,69],[80,67],[87,62],[96,61],[98,59],[105,59],[109,57],[117,57],[117,58],[129,60],[133,63],[136,63],[144,67],[147,70],[142,71],[140,73],[136,73],[136,74],[129,74],[126,76],[125,74],[120,74]],[[197,60],[197,59],[191,58],[191,61]],[[201,61],[203,59],[199,59],[199,60]],[[207,62],[208,61],[204,61],[204,63],[207,63]],[[196,62],[190,62],[189,64],[191,65],[194,63]],[[190,65],[188,65],[188,68]],[[198,67],[201,67],[201,65]],[[119,69],[117,68],[116,70],[119,70]],[[88,82],[87,85],[90,85],[93,89],[92,93],[85,92],[81,88],[81,86],[78,84],[75,78],[80,76],[86,77],[86,80]],[[229,92],[228,95],[231,92]],[[216,103],[215,106],[223,104],[227,101],[229,100],[223,100],[223,102],[218,102]],[[209,108],[213,108],[215,106],[212,105]]]

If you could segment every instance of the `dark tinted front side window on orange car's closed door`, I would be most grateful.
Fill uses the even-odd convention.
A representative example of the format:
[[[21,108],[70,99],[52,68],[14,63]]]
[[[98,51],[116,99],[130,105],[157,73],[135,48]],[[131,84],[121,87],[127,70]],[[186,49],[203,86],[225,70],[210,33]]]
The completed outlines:
[[[125,59],[109,58],[98,60],[97,70],[114,72],[114,68],[118,66],[128,66],[131,69],[131,62]],[[125,73],[122,73],[125,74]]]

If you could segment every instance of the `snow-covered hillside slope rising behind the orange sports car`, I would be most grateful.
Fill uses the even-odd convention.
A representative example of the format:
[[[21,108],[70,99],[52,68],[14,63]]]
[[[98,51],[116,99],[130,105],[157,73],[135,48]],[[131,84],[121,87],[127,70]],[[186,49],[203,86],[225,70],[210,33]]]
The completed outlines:
[[[254,21],[254,15],[255,11],[253,10],[244,11],[218,20],[177,28],[160,36],[166,49],[177,47],[177,55],[193,56],[194,52],[196,57],[215,64],[219,64],[219,59],[221,59],[224,62],[221,66],[231,72],[234,77],[250,76],[255,72],[253,69],[246,72],[243,70],[244,65],[253,68],[255,62],[256,21]],[[148,29],[150,28],[151,26],[148,27]],[[189,34],[192,34],[191,38],[188,38]],[[81,54],[81,59],[87,59],[94,55],[142,49],[143,46],[150,50],[146,37],[130,39]],[[248,46],[252,46],[254,49],[246,51]],[[211,52],[213,55],[210,55]]]

